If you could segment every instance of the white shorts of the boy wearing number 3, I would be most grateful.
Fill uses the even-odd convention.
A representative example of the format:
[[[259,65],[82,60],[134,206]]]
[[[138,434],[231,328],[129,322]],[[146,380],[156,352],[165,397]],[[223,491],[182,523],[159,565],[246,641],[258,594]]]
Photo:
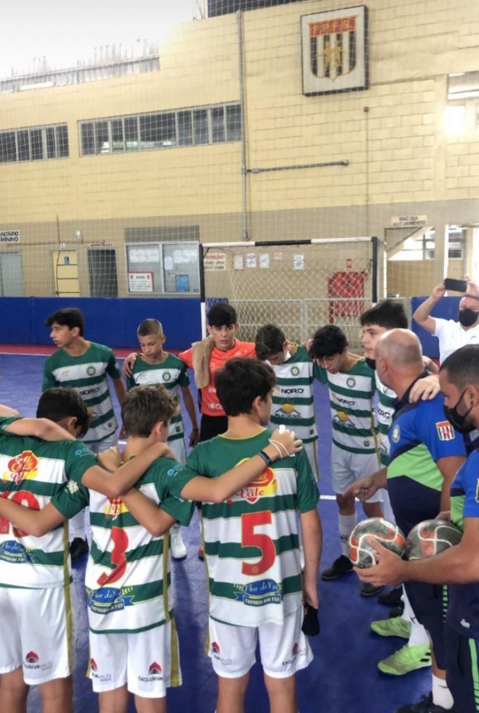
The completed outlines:
[[[127,684],[143,698],[164,698],[169,686],[181,685],[175,622],[130,634],[90,632],[88,676],[96,693]]]

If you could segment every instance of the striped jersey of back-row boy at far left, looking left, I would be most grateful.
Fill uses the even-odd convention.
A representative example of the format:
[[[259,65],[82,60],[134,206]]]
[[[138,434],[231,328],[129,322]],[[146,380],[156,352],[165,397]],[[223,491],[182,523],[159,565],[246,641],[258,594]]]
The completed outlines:
[[[58,349],[48,356],[43,366],[42,391],[52,386],[71,386],[85,401],[92,417],[83,438],[87,444],[103,441],[116,430],[107,374],[112,379],[121,378],[113,351],[95,342],[90,342],[81,356],[71,356],[64,349]]]

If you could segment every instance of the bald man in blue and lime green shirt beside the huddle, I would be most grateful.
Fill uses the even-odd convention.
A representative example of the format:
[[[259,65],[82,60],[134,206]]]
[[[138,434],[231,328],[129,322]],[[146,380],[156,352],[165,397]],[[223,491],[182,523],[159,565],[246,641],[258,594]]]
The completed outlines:
[[[381,384],[398,395],[389,431],[387,480],[386,468],[360,478],[355,495],[364,500],[387,486],[396,523],[408,535],[417,523],[449,510],[450,483],[465,460],[464,442],[445,420],[443,396],[415,404],[409,401],[411,389],[425,376],[416,334],[391,329],[378,340],[375,355]],[[408,583],[406,592],[417,620],[431,637],[432,690],[423,701],[402,706],[396,713],[443,713],[453,708],[445,682],[443,588]]]

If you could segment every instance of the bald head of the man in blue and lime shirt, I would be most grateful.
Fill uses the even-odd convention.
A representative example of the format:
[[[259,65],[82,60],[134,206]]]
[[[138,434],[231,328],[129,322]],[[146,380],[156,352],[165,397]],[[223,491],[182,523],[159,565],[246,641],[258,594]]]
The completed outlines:
[[[423,353],[416,334],[410,329],[385,332],[376,345],[376,369],[381,383],[396,393],[422,374]]]

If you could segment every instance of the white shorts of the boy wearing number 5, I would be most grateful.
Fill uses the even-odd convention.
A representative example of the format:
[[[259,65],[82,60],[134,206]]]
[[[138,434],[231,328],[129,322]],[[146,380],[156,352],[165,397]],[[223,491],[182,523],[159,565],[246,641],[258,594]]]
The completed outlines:
[[[264,673],[272,678],[288,678],[309,666],[313,652],[301,630],[302,607],[289,614],[282,624],[261,624],[259,627],[222,624],[210,617],[210,647],[208,656],[213,670],[224,678],[239,678],[247,674],[259,655]]]

